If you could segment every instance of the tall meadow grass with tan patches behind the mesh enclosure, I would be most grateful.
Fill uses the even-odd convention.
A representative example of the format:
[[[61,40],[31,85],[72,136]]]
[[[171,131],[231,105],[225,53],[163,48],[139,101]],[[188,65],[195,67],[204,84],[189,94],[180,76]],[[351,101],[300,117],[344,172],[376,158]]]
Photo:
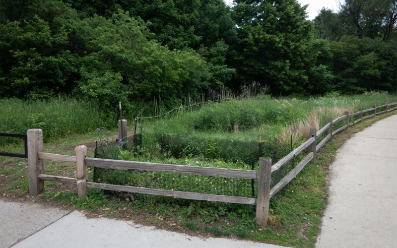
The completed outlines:
[[[249,96],[239,100],[205,104],[199,110],[174,112],[156,121],[143,121],[144,146],[159,140],[159,135],[186,132],[201,138],[253,141],[278,139],[279,142],[298,144],[309,136],[309,128],[320,129],[345,111],[363,109],[396,102],[395,94],[366,92],[361,95],[341,96],[331,93],[307,99],[270,98],[267,95]]]

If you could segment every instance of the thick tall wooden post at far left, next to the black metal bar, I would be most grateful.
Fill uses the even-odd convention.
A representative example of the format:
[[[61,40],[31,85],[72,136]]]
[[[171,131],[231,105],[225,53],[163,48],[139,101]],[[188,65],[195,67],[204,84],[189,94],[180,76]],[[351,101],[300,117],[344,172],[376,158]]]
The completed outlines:
[[[43,130],[29,129],[28,138],[28,174],[29,194],[39,194],[44,188],[44,181],[39,179],[44,174],[43,160],[39,159],[39,152],[43,152]]]

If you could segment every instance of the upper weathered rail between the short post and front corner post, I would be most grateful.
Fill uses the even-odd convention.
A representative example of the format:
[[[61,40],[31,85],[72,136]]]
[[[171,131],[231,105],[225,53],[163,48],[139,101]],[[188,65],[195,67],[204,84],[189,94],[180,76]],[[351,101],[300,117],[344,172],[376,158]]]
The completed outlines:
[[[257,179],[258,171],[211,168],[187,165],[170,165],[138,161],[125,161],[100,158],[85,158],[87,166],[105,169],[140,170],[152,172],[171,172],[180,174],[193,174],[204,176],[217,176],[227,178]]]

